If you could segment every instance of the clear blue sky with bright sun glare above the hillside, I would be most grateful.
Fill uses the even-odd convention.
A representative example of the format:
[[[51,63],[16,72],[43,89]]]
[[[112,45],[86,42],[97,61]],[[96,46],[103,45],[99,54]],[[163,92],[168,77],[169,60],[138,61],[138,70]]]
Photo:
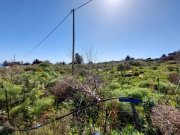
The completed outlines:
[[[72,15],[32,50],[73,8],[87,0],[0,0],[0,63],[70,62]],[[96,62],[157,58],[180,49],[180,0],[93,0],[75,12],[75,52]]]

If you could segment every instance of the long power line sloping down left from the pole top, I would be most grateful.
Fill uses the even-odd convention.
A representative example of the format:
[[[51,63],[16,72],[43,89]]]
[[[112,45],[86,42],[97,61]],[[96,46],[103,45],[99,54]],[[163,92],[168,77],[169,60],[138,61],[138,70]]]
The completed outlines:
[[[56,29],[61,26],[64,21],[70,16],[72,11],[70,11],[33,49],[31,49],[27,54],[32,53],[34,50],[36,50],[46,39],[48,39]]]

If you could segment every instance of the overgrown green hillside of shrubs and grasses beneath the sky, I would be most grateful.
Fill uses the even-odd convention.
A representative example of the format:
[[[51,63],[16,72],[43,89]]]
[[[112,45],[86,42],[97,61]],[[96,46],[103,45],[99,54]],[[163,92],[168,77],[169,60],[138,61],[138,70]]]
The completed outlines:
[[[108,135],[178,135],[178,121],[167,124],[167,129],[160,125],[163,118],[156,116],[164,115],[158,109],[162,107],[179,119],[179,58],[178,51],[158,59],[76,64],[74,76],[71,65],[48,62],[2,68],[0,134],[7,134],[6,128],[11,125],[9,133],[13,135],[95,131]],[[118,97],[143,101],[135,103],[140,128],[131,104],[119,102]]]

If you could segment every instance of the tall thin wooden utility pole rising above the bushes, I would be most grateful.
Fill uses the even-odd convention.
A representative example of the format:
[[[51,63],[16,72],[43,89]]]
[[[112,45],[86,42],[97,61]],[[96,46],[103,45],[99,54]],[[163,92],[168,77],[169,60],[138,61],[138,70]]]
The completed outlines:
[[[73,47],[72,47],[72,75],[74,75],[74,52],[75,52],[75,10],[72,10],[73,13]]]

